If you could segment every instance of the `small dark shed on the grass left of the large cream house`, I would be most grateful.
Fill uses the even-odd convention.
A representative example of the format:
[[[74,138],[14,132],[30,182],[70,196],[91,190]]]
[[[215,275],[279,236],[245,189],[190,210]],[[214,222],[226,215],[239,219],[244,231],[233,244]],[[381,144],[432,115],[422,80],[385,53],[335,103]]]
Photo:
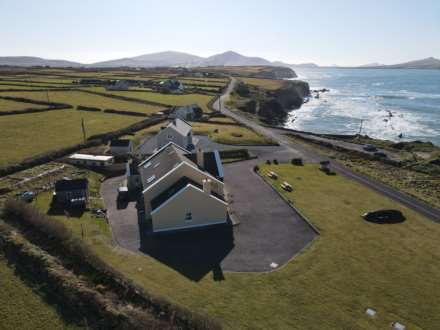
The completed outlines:
[[[54,199],[64,206],[85,206],[89,200],[87,179],[58,180],[55,183]]]

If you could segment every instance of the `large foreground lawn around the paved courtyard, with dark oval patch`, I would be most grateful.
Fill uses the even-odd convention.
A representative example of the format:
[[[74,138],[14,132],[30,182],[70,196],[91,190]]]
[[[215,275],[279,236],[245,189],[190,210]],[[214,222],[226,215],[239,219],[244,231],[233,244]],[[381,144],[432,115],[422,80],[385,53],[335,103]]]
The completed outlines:
[[[271,273],[212,273],[193,282],[160,261],[87,239],[95,252],[152,294],[220,318],[229,329],[408,329],[440,324],[440,226],[315,165],[261,165],[279,174],[275,187],[321,235],[285,267]],[[273,182],[271,182],[273,183]],[[365,211],[398,208],[407,221],[376,225]],[[74,225],[75,222],[71,221]],[[276,225],[276,223],[274,223]],[[105,236],[102,234],[102,236]],[[365,308],[377,310],[372,319]]]

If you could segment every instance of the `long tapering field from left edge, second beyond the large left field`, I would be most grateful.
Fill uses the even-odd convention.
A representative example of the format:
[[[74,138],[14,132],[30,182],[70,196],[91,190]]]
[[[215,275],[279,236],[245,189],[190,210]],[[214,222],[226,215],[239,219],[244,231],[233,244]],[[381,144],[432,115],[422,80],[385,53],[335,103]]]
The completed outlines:
[[[32,100],[47,101],[46,92],[7,92],[1,93],[4,96],[25,97]],[[100,109],[116,109],[122,111],[137,111],[152,114],[162,110],[160,107],[148,104],[122,101],[110,97],[88,94],[81,91],[50,91],[51,102],[67,103],[73,106],[83,105]]]

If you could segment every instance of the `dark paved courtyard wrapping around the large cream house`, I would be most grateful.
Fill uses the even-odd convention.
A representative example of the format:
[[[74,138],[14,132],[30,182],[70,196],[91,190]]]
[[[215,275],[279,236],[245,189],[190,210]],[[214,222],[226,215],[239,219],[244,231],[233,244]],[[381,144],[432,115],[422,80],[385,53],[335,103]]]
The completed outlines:
[[[101,187],[115,241],[145,253],[195,281],[209,272],[270,271],[287,263],[317,233],[252,170],[265,159],[287,160],[279,147],[255,149],[259,159],[224,166],[230,208],[240,224],[154,236],[136,202],[118,209],[117,187],[123,177]],[[141,219],[141,220],[139,220]]]

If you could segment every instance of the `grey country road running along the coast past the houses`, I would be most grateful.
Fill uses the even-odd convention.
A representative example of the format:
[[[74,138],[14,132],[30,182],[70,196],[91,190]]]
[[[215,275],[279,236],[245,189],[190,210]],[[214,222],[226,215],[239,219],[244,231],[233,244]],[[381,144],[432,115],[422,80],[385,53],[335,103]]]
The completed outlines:
[[[238,114],[237,112],[233,112],[229,110],[225,106],[225,100],[229,97],[229,94],[234,89],[234,86],[236,84],[236,79],[231,78],[231,82],[228,85],[228,88],[224,92],[224,94],[217,99],[216,102],[214,102],[213,107],[216,110],[220,110],[223,114],[232,117],[239,123],[253,129],[254,131],[265,135],[267,137],[272,138],[273,140],[277,141],[281,146],[285,147],[289,152],[292,153],[292,156],[295,157],[302,157],[305,160],[312,161],[312,162],[319,162],[321,160],[326,160],[326,157],[319,155],[318,153],[312,151],[311,149],[308,149],[304,147],[303,145],[300,145],[298,143],[295,143],[291,139],[289,139],[286,135],[284,135],[280,130],[270,128],[270,127],[263,127],[260,124],[245,118]],[[420,214],[424,215],[425,217],[431,219],[434,222],[440,223],[440,210],[436,209],[412,196],[409,196],[405,193],[402,193],[390,186],[387,186],[383,183],[377,182],[370,177],[367,177],[365,175],[359,174],[357,172],[354,172],[347,167],[341,165],[340,163],[337,163],[335,161],[332,161],[333,169],[336,173],[343,175],[351,180],[354,180],[360,184],[363,184],[370,189],[382,194],[383,196],[386,196],[388,198],[391,198],[406,207],[419,212]]]

